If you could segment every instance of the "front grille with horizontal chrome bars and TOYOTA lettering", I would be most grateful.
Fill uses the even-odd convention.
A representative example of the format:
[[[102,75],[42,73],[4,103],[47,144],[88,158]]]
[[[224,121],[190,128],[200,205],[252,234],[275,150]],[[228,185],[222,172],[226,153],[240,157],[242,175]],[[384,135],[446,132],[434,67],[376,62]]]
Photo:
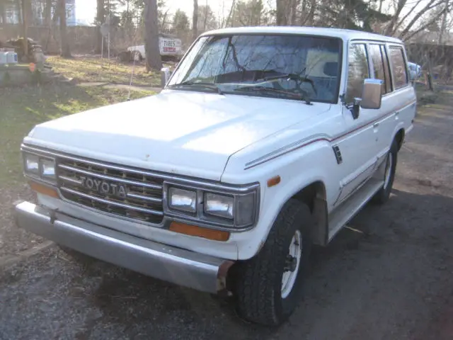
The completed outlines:
[[[163,219],[162,179],[80,159],[57,159],[57,178],[62,196],[71,202],[141,222]]]

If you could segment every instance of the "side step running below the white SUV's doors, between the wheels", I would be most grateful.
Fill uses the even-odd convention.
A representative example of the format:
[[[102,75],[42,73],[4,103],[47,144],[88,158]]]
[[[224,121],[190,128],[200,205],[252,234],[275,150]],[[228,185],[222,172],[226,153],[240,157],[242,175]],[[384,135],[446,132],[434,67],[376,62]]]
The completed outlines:
[[[341,203],[328,217],[328,241],[354,217],[360,209],[374,196],[384,185],[384,181],[371,178],[362,188],[355,192],[350,198]]]

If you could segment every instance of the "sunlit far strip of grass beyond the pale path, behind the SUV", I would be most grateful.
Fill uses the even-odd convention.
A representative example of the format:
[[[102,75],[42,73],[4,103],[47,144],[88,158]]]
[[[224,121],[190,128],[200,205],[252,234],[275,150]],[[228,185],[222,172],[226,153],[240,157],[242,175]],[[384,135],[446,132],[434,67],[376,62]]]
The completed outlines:
[[[117,60],[101,60],[99,57],[74,57],[64,59],[49,57],[47,64],[53,67],[55,73],[63,74],[67,78],[76,78],[79,81],[101,81],[110,83],[129,84],[133,64],[117,62]],[[159,73],[147,73],[144,63],[135,64],[132,84],[138,86],[160,86]]]

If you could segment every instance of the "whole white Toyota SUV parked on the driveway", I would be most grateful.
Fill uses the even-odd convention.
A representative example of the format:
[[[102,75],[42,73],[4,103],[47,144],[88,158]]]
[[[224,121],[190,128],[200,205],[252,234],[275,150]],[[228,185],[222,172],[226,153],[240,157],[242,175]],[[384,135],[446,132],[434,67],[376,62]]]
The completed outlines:
[[[216,30],[161,94],[37,125],[38,205],[20,227],[155,278],[236,297],[277,325],[311,244],[384,203],[416,97],[401,40],[350,30]]]

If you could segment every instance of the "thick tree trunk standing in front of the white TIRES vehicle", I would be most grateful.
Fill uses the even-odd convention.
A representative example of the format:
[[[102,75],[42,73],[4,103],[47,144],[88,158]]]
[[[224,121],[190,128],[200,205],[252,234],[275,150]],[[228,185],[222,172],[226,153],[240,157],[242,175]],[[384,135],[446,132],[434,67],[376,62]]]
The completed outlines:
[[[159,18],[156,0],[144,2],[144,29],[147,71],[158,71],[162,68],[161,52],[159,50]]]

